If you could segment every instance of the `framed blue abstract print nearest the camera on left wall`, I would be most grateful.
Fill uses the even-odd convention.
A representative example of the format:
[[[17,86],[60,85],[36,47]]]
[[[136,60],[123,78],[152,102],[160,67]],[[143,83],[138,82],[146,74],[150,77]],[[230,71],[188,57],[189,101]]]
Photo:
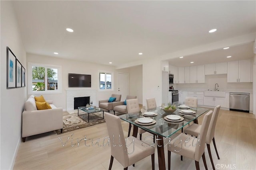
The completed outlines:
[[[6,88],[16,88],[16,56],[6,47]]]

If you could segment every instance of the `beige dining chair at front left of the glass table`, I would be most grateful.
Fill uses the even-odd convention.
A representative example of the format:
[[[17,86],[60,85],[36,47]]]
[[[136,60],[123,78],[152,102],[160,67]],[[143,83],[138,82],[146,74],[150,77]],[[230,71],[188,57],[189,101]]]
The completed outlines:
[[[150,155],[151,155],[152,170],[154,170],[155,148],[147,145],[146,143],[132,136],[126,138],[125,140],[120,117],[116,115],[112,115],[110,113],[105,113],[105,119],[106,119],[106,124],[108,128],[108,135],[110,138],[110,147],[111,147],[109,170],[111,170],[112,168],[114,158],[120,164],[122,164],[122,166],[124,167],[124,170],[127,170],[128,166],[130,165],[134,166],[136,162]],[[118,141],[118,139],[119,139],[119,145],[115,145],[116,143],[113,143],[113,142]],[[133,143],[133,140],[134,140],[134,145],[132,144],[132,146],[130,145],[129,147],[126,147],[126,143],[127,145],[129,145],[130,143]],[[141,145],[142,143],[144,146]]]

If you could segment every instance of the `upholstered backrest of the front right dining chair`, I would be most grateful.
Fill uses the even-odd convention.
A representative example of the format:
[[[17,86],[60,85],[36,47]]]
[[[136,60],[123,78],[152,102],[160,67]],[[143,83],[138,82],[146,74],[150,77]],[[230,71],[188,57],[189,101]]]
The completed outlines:
[[[211,117],[212,117],[212,110],[210,110],[208,113],[206,113],[206,115],[204,116],[204,119],[202,121],[202,126],[200,129],[200,137],[198,136],[199,139],[199,143],[196,144],[196,141],[198,139],[195,139],[194,145],[196,144],[196,150],[195,150],[195,160],[199,161],[202,154],[204,153],[204,147],[205,147],[205,141],[206,141],[206,135],[207,135],[207,131],[210,125],[210,121],[211,121]],[[190,139],[192,140],[192,139]],[[193,146],[190,146],[193,147]]]

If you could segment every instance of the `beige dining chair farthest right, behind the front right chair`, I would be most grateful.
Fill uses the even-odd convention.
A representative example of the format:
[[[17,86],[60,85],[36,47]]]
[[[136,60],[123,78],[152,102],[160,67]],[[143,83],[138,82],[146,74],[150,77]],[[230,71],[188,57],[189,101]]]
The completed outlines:
[[[220,111],[220,105],[218,105],[214,108],[214,111],[212,113],[212,119],[210,121],[210,125],[209,125],[208,132],[206,135],[206,146],[207,146],[210,160],[212,163],[212,168],[214,170],[215,170],[215,166],[214,166],[214,163],[212,160],[210,143],[213,141],[213,145],[214,145],[214,149],[216,151],[217,157],[218,157],[218,159],[220,159],[217,148],[216,148],[215,139],[214,139],[215,127],[216,127],[216,122],[217,122],[219,111]],[[201,129],[202,129],[202,125],[198,125],[198,124],[194,123],[194,124],[190,125],[189,127],[187,127],[186,129],[184,129],[184,133],[198,137],[198,134],[200,133]]]

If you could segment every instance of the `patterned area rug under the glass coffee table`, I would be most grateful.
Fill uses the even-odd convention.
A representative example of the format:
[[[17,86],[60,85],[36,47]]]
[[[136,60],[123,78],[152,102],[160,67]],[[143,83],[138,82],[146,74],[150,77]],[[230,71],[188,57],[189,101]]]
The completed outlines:
[[[89,127],[93,125],[97,125],[100,123],[104,123],[105,119],[102,118],[102,113],[90,113],[90,121],[88,123],[88,114],[82,115],[80,118],[77,113],[64,115],[63,116],[63,131],[62,133],[74,131],[77,129],[81,129],[84,127]],[[99,120],[98,120],[99,119]],[[60,134],[60,130],[56,130],[57,134]]]

